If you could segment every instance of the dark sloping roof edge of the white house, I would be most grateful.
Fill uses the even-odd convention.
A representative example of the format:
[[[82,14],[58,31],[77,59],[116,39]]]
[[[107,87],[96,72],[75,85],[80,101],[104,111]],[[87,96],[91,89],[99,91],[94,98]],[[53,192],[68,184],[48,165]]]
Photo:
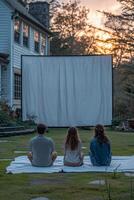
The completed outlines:
[[[38,26],[43,31],[47,32],[48,34],[52,34],[52,32],[47,29],[42,23],[40,23],[35,17],[33,17],[28,10],[20,4],[17,0],[5,0],[15,11],[17,11],[23,17],[32,21],[36,26]]]

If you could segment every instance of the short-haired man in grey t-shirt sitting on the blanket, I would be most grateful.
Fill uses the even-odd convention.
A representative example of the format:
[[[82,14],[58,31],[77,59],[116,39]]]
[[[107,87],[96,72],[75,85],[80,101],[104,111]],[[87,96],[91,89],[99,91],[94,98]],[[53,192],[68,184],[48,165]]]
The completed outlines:
[[[38,135],[30,141],[30,152],[28,153],[28,158],[33,166],[51,166],[57,157],[53,140],[44,136],[46,129],[46,125],[38,124]]]

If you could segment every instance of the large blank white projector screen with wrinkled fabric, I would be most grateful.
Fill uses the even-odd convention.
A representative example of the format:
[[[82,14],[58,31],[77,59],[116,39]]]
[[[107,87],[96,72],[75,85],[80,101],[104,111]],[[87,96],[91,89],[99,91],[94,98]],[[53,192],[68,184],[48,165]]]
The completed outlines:
[[[22,56],[22,116],[50,127],[111,125],[112,57]]]

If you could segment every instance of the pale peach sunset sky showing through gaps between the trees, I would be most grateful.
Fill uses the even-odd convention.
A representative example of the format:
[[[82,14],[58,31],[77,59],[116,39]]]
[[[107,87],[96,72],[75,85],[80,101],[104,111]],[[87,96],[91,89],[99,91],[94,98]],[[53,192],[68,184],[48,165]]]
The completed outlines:
[[[42,0],[43,1],[43,0]],[[59,0],[59,2],[70,2],[74,0]],[[47,0],[47,2],[50,2],[50,0]],[[89,9],[89,15],[88,15],[88,21],[89,25],[92,25],[96,28],[100,29],[106,29],[104,26],[105,23],[105,16],[98,11],[106,11],[111,12],[114,14],[120,13],[120,7],[121,4],[117,0],[80,0],[81,6],[85,6]],[[81,33],[82,34],[82,33]],[[108,33],[104,33],[103,31],[97,31],[96,37],[102,40],[106,40],[110,38],[110,35]],[[107,51],[113,48],[113,44],[104,44],[103,42],[98,42],[98,46],[104,47],[104,49]]]

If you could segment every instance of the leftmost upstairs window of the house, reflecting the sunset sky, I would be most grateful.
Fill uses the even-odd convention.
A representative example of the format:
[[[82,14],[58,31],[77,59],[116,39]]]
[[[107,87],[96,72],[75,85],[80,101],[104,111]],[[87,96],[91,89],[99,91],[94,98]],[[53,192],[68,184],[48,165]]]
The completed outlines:
[[[21,33],[21,21],[15,19],[14,22],[14,41],[20,44],[20,33]]]

